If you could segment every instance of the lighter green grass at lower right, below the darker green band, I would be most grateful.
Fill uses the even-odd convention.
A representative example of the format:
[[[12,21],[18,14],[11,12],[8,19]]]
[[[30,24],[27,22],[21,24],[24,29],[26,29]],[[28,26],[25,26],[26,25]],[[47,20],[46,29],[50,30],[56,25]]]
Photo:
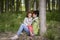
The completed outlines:
[[[60,40],[60,22],[50,21],[47,23],[47,32],[45,37],[48,40]]]

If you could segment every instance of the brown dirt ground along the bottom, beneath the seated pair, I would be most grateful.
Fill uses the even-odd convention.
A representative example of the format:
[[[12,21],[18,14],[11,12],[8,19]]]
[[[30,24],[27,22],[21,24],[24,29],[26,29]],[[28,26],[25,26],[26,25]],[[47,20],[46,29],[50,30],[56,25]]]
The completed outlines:
[[[7,33],[0,33],[0,40],[11,40],[10,37],[14,36],[14,33],[7,32]],[[30,37],[26,34],[23,34],[17,40],[40,40],[40,36]]]

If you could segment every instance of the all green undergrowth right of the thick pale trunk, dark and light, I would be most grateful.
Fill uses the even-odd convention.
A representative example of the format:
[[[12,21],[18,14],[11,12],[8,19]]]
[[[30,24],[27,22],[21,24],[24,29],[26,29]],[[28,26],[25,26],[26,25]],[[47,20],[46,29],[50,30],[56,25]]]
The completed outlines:
[[[47,32],[45,37],[48,40],[60,40],[60,12],[47,12]]]

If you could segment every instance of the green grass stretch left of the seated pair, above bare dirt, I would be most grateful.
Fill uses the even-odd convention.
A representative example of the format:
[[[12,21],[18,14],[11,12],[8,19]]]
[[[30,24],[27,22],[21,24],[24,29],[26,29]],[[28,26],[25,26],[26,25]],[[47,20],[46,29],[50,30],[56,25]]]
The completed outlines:
[[[0,14],[0,32],[16,32],[25,15],[25,12]]]

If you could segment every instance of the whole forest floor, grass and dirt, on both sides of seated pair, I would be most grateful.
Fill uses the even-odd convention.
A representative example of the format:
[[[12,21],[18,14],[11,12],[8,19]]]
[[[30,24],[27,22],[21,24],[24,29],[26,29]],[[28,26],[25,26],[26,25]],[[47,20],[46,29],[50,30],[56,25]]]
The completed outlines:
[[[23,22],[26,13],[2,13],[0,14],[0,40],[10,40],[15,35],[20,24]],[[47,33],[49,40],[60,40],[60,12],[47,12]],[[30,37],[23,34],[19,40],[30,40]],[[40,36],[33,37],[33,40],[40,40]]]

